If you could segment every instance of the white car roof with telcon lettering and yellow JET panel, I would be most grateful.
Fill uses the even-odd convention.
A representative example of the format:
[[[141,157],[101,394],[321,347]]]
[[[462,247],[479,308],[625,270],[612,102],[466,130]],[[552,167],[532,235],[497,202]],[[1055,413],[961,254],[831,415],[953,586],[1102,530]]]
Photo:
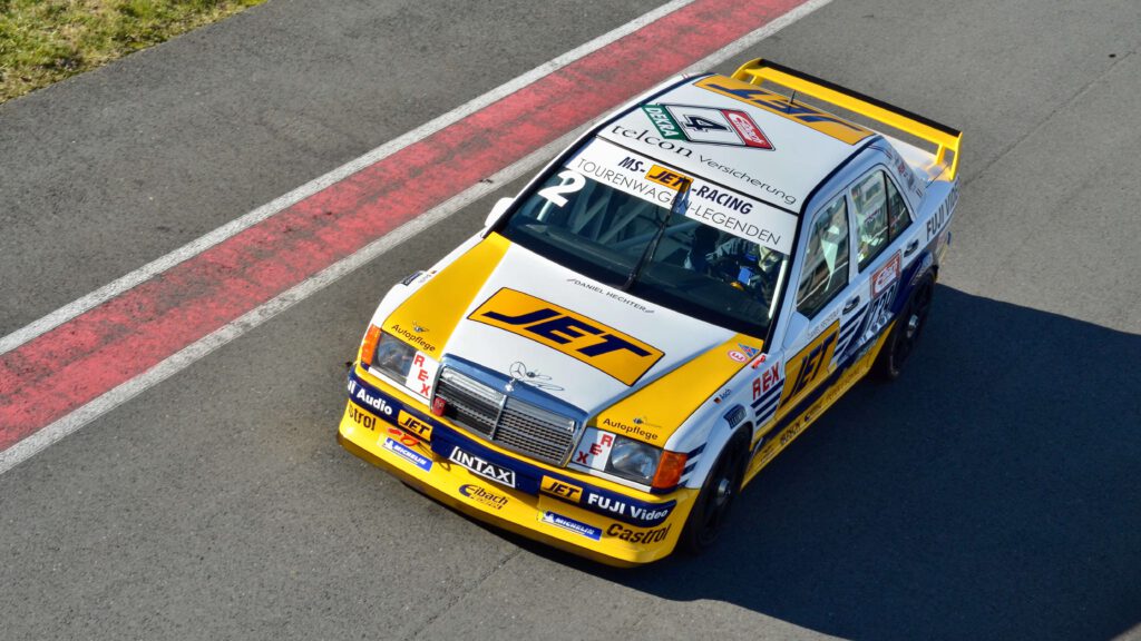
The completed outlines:
[[[655,95],[598,136],[791,212],[879,137],[795,98],[713,74]]]

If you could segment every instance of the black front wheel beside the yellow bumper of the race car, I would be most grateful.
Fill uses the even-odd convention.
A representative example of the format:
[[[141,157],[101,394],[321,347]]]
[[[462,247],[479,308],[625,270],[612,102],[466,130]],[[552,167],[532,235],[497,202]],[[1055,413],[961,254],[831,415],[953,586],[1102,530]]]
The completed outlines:
[[[733,504],[741,493],[741,480],[747,460],[747,439],[738,432],[721,451],[710,469],[694,509],[686,520],[679,544],[690,554],[701,554],[713,546],[729,520]]]

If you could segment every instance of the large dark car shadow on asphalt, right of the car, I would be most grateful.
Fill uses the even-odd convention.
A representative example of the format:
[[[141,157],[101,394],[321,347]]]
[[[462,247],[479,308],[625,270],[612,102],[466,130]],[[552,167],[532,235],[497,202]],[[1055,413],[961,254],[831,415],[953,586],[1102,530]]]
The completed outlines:
[[[1108,639],[1141,620],[1141,336],[946,286],[699,558],[559,560],[856,639]]]

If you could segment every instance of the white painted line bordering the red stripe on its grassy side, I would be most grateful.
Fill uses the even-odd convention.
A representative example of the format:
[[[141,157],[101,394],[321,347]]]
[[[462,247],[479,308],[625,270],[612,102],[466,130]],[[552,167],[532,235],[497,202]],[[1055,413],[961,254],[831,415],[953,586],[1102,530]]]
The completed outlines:
[[[365,169],[366,167],[371,167],[380,162],[381,160],[395,154],[396,152],[403,149],[404,147],[407,147],[413,143],[423,140],[424,138],[431,136],[432,133],[436,133],[437,131],[471,115],[472,113],[478,112],[479,109],[486,107],[487,105],[501,100],[504,97],[515,94],[519,89],[523,89],[524,87],[535,82],[536,80],[540,80],[541,78],[567,66],[568,64],[577,60],[578,58],[585,57],[591,52],[614,42],[615,40],[618,40],[624,35],[633,33],[634,31],[638,31],[639,29],[646,26],[647,24],[650,24],[663,16],[672,14],[673,11],[693,2],[694,0],[673,0],[672,2],[666,2],[665,5],[662,5],[661,7],[654,9],[653,11],[649,11],[647,14],[644,14],[634,18],[632,22],[629,22],[613,31],[604,33],[602,35],[599,35],[598,38],[591,40],[590,42],[576,47],[567,51],[566,54],[563,54],[561,56],[553,58],[528,71],[527,73],[496,87],[495,89],[492,89],[491,91],[484,94],[483,96],[479,96],[478,98],[475,98],[413,129],[412,131],[404,133],[399,138],[394,138],[388,143],[385,143],[383,145],[377,147],[375,149],[366,153],[365,155],[356,160],[351,160],[342,164],[341,167],[338,167],[337,169],[330,171],[329,173],[319,178],[315,178],[306,182],[305,185],[301,185],[300,187],[293,189],[292,192],[283,196],[274,198],[273,201],[242,216],[241,218],[236,218],[227,222],[226,225],[222,225],[221,227],[215,229],[213,232],[210,232],[204,236],[191,241],[189,243],[178,248],[177,250],[168,253],[167,255],[144,265],[143,267],[136,269],[135,271],[131,271],[130,274],[127,274],[126,276],[122,276],[119,279],[113,281],[99,287],[98,290],[60,307],[59,309],[52,311],[51,314],[48,314],[47,316],[43,316],[38,320],[29,323],[24,327],[21,327],[19,330],[16,330],[15,332],[0,339],[0,354],[5,354],[7,351],[16,349],[17,347],[26,343],[27,341],[39,336],[40,334],[49,332],[52,328],[58,327],[59,325],[63,325],[64,323],[71,320],[72,318],[75,318],[80,314],[83,314],[84,311],[94,307],[98,307],[104,302],[118,297],[119,294],[141,283],[145,283],[146,281],[149,281],[151,278],[157,276],[159,274],[162,274],[163,271],[170,269],[171,267],[175,267],[176,265],[209,250],[210,248],[217,245],[218,243],[225,241],[226,238],[229,238],[230,236],[238,234],[243,229],[257,225],[258,222],[261,222],[262,220],[274,216],[275,213],[282,211],[283,209],[297,204],[298,202],[304,201],[305,198],[316,194],[317,192],[321,192],[326,187],[330,187],[337,182],[340,182],[341,180],[345,180],[349,176],[353,176],[354,173],[361,171],[362,169]]]

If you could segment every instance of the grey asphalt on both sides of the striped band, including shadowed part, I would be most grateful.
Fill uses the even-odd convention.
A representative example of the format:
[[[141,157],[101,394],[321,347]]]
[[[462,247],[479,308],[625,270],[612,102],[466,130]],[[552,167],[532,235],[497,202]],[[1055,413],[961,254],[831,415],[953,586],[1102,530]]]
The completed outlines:
[[[0,335],[654,6],[270,0],[0,106]],[[965,135],[908,371],[711,553],[602,568],[335,444],[379,297],[513,182],[0,476],[0,639],[1141,638],[1139,26],[1133,0],[839,0],[712,70],[771,58]]]

